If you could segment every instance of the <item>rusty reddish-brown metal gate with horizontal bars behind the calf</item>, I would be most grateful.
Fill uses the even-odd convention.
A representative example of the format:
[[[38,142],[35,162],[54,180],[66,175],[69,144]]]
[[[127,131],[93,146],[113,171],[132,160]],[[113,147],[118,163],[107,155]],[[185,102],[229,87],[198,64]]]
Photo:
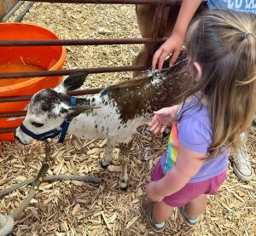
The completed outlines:
[[[16,46],[52,46],[52,45],[111,45],[111,44],[142,44],[148,43],[148,60],[154,55],[154,49],[159,43],[163,43],[163,33],[168,19],[170,7],[180,5],[181,0],[27,0],[27,2],[44,2],[44,3],[93,3],[93,4],[154,4],[154,21],[152,28],[152,36],[150,38],[115,38],[115,39],[60,39],[60,40],[0,40],[0,47],[16,47]],[[203,3],[204,4],[204,3]],[[74,72],[89,73],[106,73],[106,72],[128,72],[135,70],[144,70],[146,65],[137,66],[113,66],[113,67],[97,67],[73,70],[59,71],[42,71],[42,72],[15,72],[0,73],[1,78],[35,78],[47,76],[64,76]],[[81,89],[72,91],[69,95],[89,95],[98,93],[101,89]],[[31,95],[0,97],[0,102],[10,101],[29,101]],[[26,111],[22,112],[0,112],[0,118],[20,117],[26,115]],[[15,132],[16,127],[8,129],[0,129],[1,133]]]

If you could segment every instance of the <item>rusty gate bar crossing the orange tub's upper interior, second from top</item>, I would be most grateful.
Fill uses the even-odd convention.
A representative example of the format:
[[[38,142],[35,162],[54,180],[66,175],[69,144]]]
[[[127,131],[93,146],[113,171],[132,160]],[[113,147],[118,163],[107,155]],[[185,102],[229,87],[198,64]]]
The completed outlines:
[[[156,38],[154,42],[164,43],[166,39],[166,37]],[[153,40],[151,38],[0,40],[0,47],[55,45],[112,45],[143,43],[153,43]]]

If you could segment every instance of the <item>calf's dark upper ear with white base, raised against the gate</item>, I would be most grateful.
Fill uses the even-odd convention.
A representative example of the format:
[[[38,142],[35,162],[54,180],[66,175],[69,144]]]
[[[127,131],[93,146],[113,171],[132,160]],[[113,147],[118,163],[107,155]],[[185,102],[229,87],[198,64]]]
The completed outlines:
[[[67,94],[69,91],[79,89],[83,85],[88,74],[89,72],[78,72],[69,75],[63,83],[55,88],[55,91],[58,93]]]

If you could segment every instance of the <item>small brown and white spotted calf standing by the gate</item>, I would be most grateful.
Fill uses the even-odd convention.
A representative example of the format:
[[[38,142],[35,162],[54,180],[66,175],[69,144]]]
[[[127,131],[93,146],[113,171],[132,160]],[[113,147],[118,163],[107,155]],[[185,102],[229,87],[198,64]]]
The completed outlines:
[[[163,70],[162,74],[144,72],[142,78],[108,86],[101,93],[87,98],[77,98],[76,106],[70,106],[67,92],[78,89],[85,77],[71,75],[56,89],[43,89],[33,95],[23,124],[34,134],[42,134],[60,130],[66,118],[73,118],[67,133],[85,140],[108,138],[108,150],[102,159],[102,166],[108,166],[113,148],[119,147],[122,166],[119,186],[125,188],[128,157],[137,128],[148,124],[153,111],[179,102],[177,96],[188,82],[186,74],[180,73],[185,58],[186,55],[180,55],[180,62],[171,69]],[[98,108],[84,112],[88,106]],[[23,144],[32,141],[32,137],[20,127],[15,135]]]

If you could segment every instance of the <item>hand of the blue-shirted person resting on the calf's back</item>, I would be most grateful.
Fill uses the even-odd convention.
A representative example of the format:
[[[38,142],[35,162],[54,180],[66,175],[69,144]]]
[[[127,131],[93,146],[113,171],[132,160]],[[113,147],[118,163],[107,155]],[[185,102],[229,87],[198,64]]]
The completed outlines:
[[[163,43],[160,48],[154,53],[152,60],[152,69],[155,70],[155,66],[158,63],[159,71],[162,70],[162,66],[166,57],[172,54],[172,58],[170,60],[170,67],[177,60],[177,56],[180,53],[180,50],[183,46],[184,37],[176,32],[173,32],[171,37],[169,37],[165,43]]]

